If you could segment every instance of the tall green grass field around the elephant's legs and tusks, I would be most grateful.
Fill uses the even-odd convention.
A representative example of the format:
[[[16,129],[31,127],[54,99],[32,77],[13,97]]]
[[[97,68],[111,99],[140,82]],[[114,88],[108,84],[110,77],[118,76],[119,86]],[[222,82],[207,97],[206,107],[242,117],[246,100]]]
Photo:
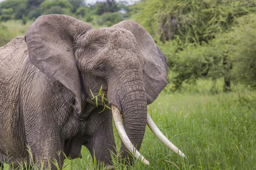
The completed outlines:
[[[201,89],[210,88],[209,81],[198,84]],[[198,85],[191,86],[196,87],[200,89]],[[239,93],[217,94],[163,91],[148,106],[148,112],[186,158],[165,147],[147,127],[140,152],[151,164],[135,161],[133,166],[123,165],[114,156],[113,165],[119,170],[255,170],[255,106],[256,92],[243,88]],[[116,131],[115,138],[120,144]],[[64,170],[95,169],[84,147],[82,156],[82,159],[66,160]]]

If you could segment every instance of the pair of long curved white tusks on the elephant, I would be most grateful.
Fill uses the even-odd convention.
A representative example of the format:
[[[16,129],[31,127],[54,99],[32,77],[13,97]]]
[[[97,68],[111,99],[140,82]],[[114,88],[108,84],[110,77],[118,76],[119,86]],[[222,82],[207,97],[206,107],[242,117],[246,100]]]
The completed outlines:
[[[114,105],[111,105],[111,108],[112,108],[113,120],[116,125],[116,130],[119,133],[119,136],[122,142],[125,144],[125,147],[129,150],[130,153],[133,154],[133,156],[136,159],[142,161],[143,164],[149,165],[149,162],[140,154],[140,152],[136,149],[136,147],[134,147],[134,145],[131,143],[131,140],[128,138],[122,123],[119,109],[116,108],[116,106]],[[174,153],[182,157],[185,157],[185,155],[174,144],[172,144],[172,142],[170,142],[166,138],[166,136],[163,135],[163,133],[158,129],[157,125],[153,122],[153,120],[151,119],[148,113],[147,113],[147,125],[163,144],[169,147],[169,149],[171,149]]]

